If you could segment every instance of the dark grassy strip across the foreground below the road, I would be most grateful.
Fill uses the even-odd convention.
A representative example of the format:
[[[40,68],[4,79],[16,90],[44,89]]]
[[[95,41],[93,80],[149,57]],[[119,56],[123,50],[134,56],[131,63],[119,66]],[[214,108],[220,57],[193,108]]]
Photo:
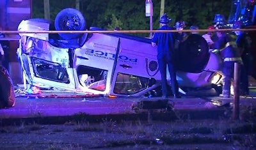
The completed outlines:
[[[103,117],[97,123],[88,121],[90,116],[79,113],[63,124],[47,125],[22,121],[19,125],[1,126],[0,137],[4,140],[4,135],[8,134],[14,134],[17,138],[20,134],[47,135],[45,139],[52,137],[51,141],[44,145],[47,149],[109,149],[109,147],[141,146],[149,149],[159,149],[159,147],[170,149],[174,145],[179,147],[191,144],[251,149],[256,147],[255,112],[256,109],[253,107],[242,107],[240,119],[235,121],[222,118],[182,119],[180,114],[178,117],[180,119],[174,121],[154,119],[150,122],[147,119],[127,121]],[[64,135],[67,137],[63,137]],[[70,138],[70,141],[64,142],[60,137]],[[40,142],[44,141],[38,141],[36,144]]]

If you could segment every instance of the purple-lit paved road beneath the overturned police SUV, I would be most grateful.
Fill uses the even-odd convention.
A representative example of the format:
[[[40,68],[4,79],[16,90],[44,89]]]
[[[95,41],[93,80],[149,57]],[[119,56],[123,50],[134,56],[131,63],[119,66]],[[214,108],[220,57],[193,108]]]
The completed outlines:
[[[54,95],[54,96],[52,96]],[[250,96],[239,98],[241,105],[256,107],[256,88],[250,89]],[[136,115],[143,112],[158,112],[170,109],[190,119],[218,118],[232,106],[233,98],[182,97],[168,98],[106,98],[100,96],[77,95],[70,93],[43,93],[39,96],[17,96],[15,107],[0,109],[0,119],[25,119],[35,117],[61,117],[86,114],[89,116]],[[150,111],[149,111],[150,110]],[[161,112],[161,111],[160,111]],[[183,113],[183,114],[182,114]],[[163,114],[163,113],[162,113]],[[173,117],[177,117],[176,115]]]

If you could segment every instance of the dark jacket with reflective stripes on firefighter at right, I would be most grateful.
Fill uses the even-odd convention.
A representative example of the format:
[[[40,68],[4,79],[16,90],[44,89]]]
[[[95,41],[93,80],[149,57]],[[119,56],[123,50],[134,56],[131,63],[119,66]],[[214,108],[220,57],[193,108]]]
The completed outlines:
[[[223,33],[223,35],[211,45],[213,52],[220,52],[223,61],[242,61],[239,50],[236,45],[236,38],[232,35]]]

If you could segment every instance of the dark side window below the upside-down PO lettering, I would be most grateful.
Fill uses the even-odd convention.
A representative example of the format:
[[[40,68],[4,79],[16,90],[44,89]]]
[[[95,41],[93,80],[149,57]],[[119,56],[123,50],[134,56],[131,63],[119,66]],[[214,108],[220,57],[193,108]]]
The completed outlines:
[[[115,94],[135,94],[148,87],[149,79],[134,75],[118,73],[116,77]]]

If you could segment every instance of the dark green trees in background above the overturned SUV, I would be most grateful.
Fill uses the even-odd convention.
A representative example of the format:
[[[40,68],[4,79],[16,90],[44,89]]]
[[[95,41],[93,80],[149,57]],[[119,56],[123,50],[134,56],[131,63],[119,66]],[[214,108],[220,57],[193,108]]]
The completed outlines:
[[[153,29],[159,27],[161,1],[153,1]],[[232,1],[219,0],[180,0],[165,1],[164,12],[172,18],[170,26],[177,20],[184,20],[187,27],[195,25],[207,29],[212,24],[214,15],[221,13],[228,17]],[[33,17],[44,18],[43,1],[33,0]],[[54,20],[59,11],[64,8],[76,8],[76,0],[51,0],[51,19]],[[80,0],[80,11],[86,19],[87,28],[90,26],[113,30],[120,26],[123,30],[148,30],[150,19],[145,17],[145,1],[138,0]],[[227,18],[226,18],[227,19]],[[147,36],[148,34],[137,34]]]

